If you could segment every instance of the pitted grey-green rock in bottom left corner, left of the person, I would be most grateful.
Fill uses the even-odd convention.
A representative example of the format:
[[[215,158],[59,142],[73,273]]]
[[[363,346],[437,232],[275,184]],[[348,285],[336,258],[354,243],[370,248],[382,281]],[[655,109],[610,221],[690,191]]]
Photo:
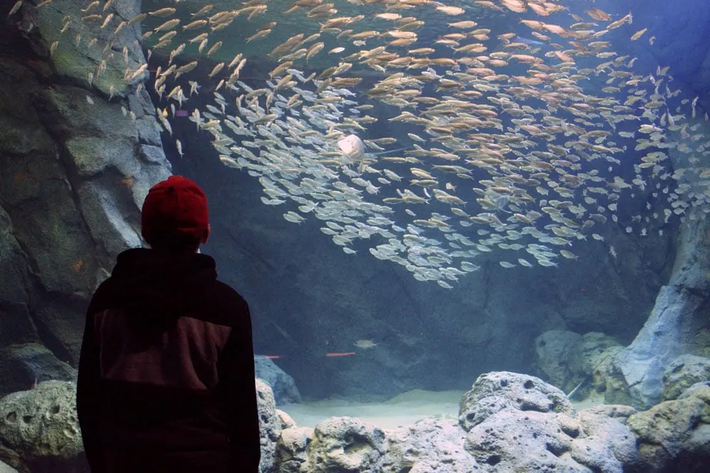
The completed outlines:
[[[32,472],[84,467],[76,409],[76,385],[45,381],[0,400],[0,456]]]

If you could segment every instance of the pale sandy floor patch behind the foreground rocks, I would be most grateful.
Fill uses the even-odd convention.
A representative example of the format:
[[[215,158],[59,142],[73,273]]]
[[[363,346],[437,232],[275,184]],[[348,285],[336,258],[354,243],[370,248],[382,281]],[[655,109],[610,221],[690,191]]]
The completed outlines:
[[[465,391],[422,391],[402,393],[384,403],[354,403],[343,399],[326,399],[311,403],[279,406],[299,427],[315,427],[329,417],[356,417],[379,428],[391,429],[411,425],[428,417],[457,419],[459,401]],[[577,411],[602,404],[603,399],[573,403]]]

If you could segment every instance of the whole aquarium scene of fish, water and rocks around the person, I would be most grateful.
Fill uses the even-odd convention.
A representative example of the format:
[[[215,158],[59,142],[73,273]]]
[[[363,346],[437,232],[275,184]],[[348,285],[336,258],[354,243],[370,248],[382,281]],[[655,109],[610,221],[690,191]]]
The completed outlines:
[[[707,1],[0,6],[0,473],[90,471],[87,308],[170,175],[259,472],[710,472]]]

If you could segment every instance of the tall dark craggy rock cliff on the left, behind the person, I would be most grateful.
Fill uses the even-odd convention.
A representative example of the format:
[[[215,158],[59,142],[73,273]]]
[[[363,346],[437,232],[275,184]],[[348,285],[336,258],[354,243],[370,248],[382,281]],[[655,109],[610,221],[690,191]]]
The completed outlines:
[[[87,53],[86,42],[100,25],[75,22],[60,35],[64,14],[80,5],[26,2],[0,28],[0,346],[41,342],[70,364],[94,288],[119,251],[141,244],[140,205],[170,174],[148,93],[138,80],[118,85],[121,55],[89,85],[100,51]],[[111,8],[130,18],[139,5]],[[139,38],[137,26],[124,28],[116,47]],[[131,48],[129,67],[138,60]]]

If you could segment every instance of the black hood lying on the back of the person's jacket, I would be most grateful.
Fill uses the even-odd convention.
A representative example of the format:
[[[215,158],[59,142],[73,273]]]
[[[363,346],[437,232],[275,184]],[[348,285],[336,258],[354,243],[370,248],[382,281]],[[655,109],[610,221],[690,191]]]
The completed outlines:
[[[121,308],[158,318],[195,312],[217,282],[212,256],[136,248],[119,254],[111,272]]]

